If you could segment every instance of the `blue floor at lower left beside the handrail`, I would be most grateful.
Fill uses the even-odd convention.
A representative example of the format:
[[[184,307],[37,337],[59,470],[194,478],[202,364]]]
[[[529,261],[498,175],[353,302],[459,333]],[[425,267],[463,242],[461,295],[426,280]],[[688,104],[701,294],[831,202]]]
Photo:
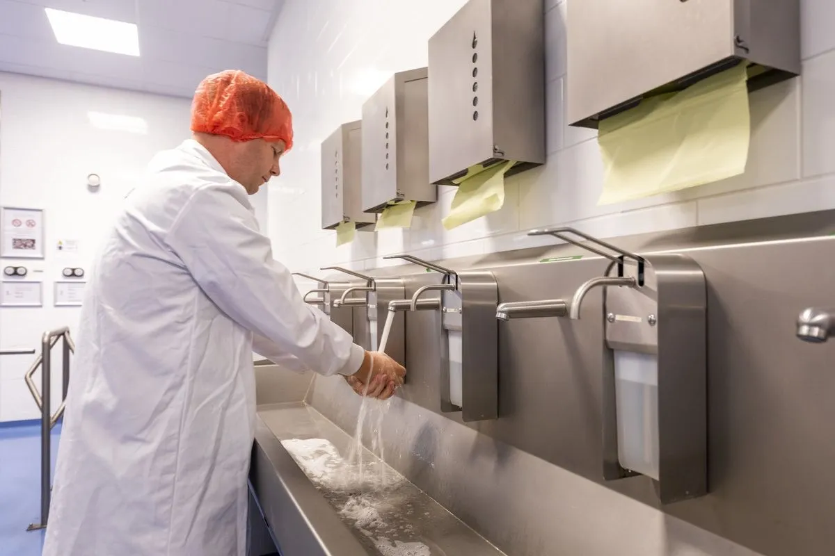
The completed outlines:
[[[60,430],[52,433],[53,470]],[[26,530],[40,508],[40,423],[0,423],[0,556],[40,556],[44,531]]]

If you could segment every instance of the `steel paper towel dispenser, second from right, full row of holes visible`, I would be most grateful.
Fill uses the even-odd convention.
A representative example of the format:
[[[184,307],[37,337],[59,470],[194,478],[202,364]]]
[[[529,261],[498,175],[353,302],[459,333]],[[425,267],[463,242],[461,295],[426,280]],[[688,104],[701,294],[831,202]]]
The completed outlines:
[[[470,0],[429,39],[429,179],[545,163],[542,0]]]

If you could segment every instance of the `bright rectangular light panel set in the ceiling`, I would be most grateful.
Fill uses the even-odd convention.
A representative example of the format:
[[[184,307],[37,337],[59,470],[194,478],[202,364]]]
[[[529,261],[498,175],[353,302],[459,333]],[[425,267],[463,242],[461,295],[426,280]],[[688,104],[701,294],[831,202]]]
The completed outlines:
[[[94,18],[53,8],[44,9],[58,43],[139,56],[139,32],[135,23]]]

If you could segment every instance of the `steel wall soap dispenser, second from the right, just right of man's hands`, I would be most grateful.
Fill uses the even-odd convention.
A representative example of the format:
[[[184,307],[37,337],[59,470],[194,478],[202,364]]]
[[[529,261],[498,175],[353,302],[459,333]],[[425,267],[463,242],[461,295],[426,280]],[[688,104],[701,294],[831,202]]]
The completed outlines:
[[[493,273],[453,272],[412,255],[390,255],[443,273],[443,283],[418,288],[411,310],[421,307],[420,297],[441,292],[441,411],[461,412],[463,421],[498,418],[498,284]]]

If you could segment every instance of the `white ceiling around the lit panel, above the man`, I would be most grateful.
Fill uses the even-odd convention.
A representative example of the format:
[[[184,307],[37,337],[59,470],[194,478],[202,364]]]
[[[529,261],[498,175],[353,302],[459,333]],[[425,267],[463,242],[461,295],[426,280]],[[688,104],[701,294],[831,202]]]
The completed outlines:
[[[202,78],[266,79],[284,0],[0,0],[0,71],[190,98]],[[139,58],[58,44],[43,8],[136,23]]]

